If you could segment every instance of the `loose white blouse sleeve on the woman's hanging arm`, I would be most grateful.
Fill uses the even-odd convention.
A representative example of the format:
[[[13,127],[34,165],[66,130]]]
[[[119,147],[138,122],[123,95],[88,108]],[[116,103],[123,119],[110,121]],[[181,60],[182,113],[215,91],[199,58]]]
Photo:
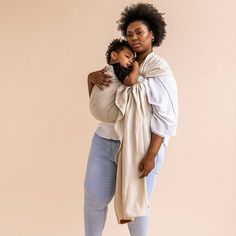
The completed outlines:
[[[159,76],[144,81],[152,107],[151,130],[168,138],[176,134],[178,123],[177,86],[173,76]]]

